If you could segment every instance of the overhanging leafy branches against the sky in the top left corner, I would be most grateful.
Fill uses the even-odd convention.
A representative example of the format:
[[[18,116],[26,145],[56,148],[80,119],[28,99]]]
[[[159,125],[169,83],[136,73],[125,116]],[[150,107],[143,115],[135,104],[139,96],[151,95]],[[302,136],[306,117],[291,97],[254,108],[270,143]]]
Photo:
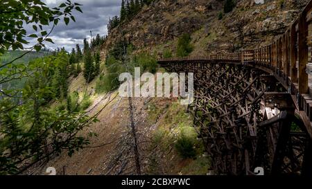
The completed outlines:
[[[0,4],[0,54],[12,48],[24,49],[25,44],[29,44],[26,37],[37,39],[37,44],[33,46],[36,51],[44,47],[43,42],[53,42],[49,38],[48,31],[44,26],[58,25],[60,19],[64,19],[65,24],[75,18],[71,16],[72,11],[81,11],[79,3],[61,3],[57,8],[49,8],[39,0],[16,1],[8,0]],[[24,23],[33,27],[34,33],[26,36]],[[38,35],[39,33],[39,35]]]

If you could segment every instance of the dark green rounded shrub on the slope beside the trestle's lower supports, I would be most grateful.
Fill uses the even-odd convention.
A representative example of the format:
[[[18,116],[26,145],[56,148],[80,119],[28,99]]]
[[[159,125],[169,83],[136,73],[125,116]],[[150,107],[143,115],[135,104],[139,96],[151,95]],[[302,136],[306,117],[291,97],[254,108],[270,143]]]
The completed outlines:
[[[175,143],[175,149],[184,159],[194,158],[196,156],[196,150],[193,148],[195,144],[196,141],[193,138],[182,133]]]

